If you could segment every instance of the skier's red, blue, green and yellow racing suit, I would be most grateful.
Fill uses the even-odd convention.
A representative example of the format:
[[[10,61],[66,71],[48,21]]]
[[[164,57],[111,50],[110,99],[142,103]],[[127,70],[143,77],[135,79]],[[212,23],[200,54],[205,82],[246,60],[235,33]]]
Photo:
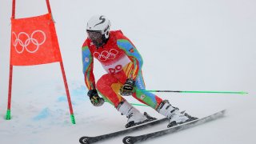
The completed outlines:
[[[101,62],[107,72],[98,79],[97,84],[95,84],[93,72],[94,58]],[[157,95],[145,91],[142,77],[142,57],[121,30],[110,31],[109,40],[98,49],[87,38],[82,46],[82,63],[88,90],[97,89],[99,94],[115,107],[124,100],[119,94],[119,89],[127,78],[133,78],[135,81],[136,90],[132,96],[138,101],[155,110],[162,102],[162,99]]]

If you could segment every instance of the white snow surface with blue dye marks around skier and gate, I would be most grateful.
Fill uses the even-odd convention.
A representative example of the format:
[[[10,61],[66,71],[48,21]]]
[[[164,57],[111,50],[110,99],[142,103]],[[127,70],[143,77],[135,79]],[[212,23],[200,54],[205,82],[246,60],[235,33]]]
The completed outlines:
[[[5,120],[10,59],[11,1],[0,0],[0,143],[74,144],[84,135],[122,130],[126,118],[106,103],[86,98],[81,46],[86,22],[105,14],[112,30],[121,29],[144,58],[148,90],[228,90],[250,94],[167,94],[188,113],[202,117],[227,109],[226,117],[144,143],[255,143],[256,1],[254,0],[50,0],[70,87],[76,124],[70,123],[58,63],[14,66],[10,121]],[[16,18],[46,14],[44,0],[17,0]],[[104,70],[98,62],[98,79]],[[133,98],[127,98],[136,102]],[[152,116],[162,115],[138,106]],[[161,130],[166,124],[134,134]],[[124,135],[125,136],[125,135]],[[99,143],[122,143],[122,138]]]

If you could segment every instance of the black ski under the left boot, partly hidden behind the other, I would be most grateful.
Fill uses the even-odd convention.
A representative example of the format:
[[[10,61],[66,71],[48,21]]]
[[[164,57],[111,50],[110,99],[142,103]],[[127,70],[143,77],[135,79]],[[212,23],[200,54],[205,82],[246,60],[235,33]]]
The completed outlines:
[[[95,136],[95,137],[85,136],[85,137],[80,138],[79,142],[82,143],[82,144],[90,144],[90,143],[106,140],[108,138],[114,138],[118,135],[128,134],[128,133],[133,132],[135,130],[141,130],[141,129],[144,129],[144,128],[149,127],[149,126],[154,126],[154,125],[157,125],[159,123],[166,122],[168,120],[169,120],[168,118],[162,118],[162,119],[157,119],[157,120],[154,120],[154,121],[142,123],[142,124],[137,125],[137,126],[132,126],[132,127],[127,128],[125,130],[119,130],[119,131],[116,131],[116,132],[113,132],[113,133],[110,133],[110,134],[102,134],[102,135],[98,135],[98,136]]]

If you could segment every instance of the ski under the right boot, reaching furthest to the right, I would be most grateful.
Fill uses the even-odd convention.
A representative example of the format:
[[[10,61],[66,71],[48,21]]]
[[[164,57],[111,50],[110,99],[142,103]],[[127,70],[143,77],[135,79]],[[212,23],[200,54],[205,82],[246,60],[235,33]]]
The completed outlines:
[[[133,144],[135,142],[146,141],[148,139],[156,138],[156,137],[159,137],[159,136],[162,136],[165,134],[172,134],[172,133],[178,132],[180,130],[188,129],[192,126],[198,126],[202,123],[213,121],[214,119],[222,117],[225,114],[225,112],[226,112],[226,110],[221,110],[218,113],[210,114],[209,116],[206,116],[205,118],[198,118],[194,121],[185,122],[181,125],[173,126],[173,127],[167,128],[165,130],[159,130],[154,133],[143,134],[143,135],[138,135],[138,136],[127,136],[122,139],[122,142],[125,144]]]

